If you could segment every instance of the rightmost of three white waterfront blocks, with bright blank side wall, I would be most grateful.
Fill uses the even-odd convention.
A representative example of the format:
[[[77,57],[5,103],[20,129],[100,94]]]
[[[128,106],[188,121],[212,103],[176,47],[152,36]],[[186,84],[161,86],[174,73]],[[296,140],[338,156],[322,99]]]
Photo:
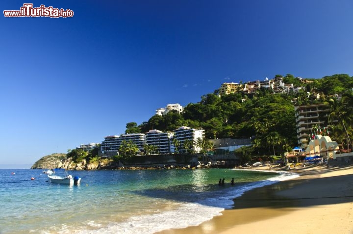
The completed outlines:
[[[177,148],[179,153],[186,153],[185,148],[183,147],[185,140],[192,140],[193,147],[192,149],[199,153],[201,148],[196,145],[196,140],[198,138],[204,138],[204,130],[203,129],[194,129],[182,126],[176,130],[174,130],[174,138],[179,141],[180,146]]]

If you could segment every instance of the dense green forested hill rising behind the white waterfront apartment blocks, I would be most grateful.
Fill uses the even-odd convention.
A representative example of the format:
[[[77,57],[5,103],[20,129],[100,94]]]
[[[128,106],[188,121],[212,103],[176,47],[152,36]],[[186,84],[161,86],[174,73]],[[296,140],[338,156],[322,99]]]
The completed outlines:
[[[297,145],[295,105],[324,102],[329,95],[353,88],[353,77],[347,74],[305,80],[308,82],[301,82],[290,74],[283,77],[285,84],[303,87],[299,93],[273,94],[260,89],[254,94],[239,92],[220,97],[215,91],[203,95],[198,103],[189,103],[182,115],[170,112],[152,116],[139,126],[127,123],[126,133],[144,133],[151,129],[173,131],[184,125],[203,128],[207,139],[256,137],[254,144],[258,146],[277,141],[283,148],[290,148]]]

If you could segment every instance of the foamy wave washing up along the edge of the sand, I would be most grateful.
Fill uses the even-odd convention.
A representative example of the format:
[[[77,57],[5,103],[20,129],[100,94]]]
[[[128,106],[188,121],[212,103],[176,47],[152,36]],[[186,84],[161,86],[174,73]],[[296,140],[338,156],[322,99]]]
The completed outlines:
[[[259,170],[263,172],[262,170]],[[269,172],[269,171],[266,171]],[[124,222],[108,225],[89,221],[87,227],[76,230],[62,230],[61,234],[153,234],[162,230],[180,229],[198,226],[201,223],[222,215],[222,211],[231,208],[233,199],[244,192],[299,177],[296,173],[270,171],[278,175],[267,180],[251,182],[242,186],[227,187],[213,191],[210,196],[198,203],[179,203],[177,209],[151,215],[133,216]]]

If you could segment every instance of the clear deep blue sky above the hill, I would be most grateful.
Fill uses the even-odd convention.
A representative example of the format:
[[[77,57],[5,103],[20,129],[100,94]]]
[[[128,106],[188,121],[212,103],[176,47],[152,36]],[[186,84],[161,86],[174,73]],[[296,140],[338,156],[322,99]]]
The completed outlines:
[[[101,142],[224,82],[353,75],[351,0],[30,2],[75,15],[1,17],[0,164]]]

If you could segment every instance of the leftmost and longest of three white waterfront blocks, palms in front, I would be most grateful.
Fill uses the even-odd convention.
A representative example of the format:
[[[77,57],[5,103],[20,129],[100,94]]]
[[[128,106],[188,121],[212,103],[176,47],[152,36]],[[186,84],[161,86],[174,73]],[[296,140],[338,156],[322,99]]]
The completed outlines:
[[[102,153],[105,153],[106,151],[117,153],[123,140],[132,140],[132,142],[135,143],[141,151],[143,149],[143,145],[146,144],[146,135],[143,133],[132,133],[123,134],[121,136],[107,136],[101,143]]]

